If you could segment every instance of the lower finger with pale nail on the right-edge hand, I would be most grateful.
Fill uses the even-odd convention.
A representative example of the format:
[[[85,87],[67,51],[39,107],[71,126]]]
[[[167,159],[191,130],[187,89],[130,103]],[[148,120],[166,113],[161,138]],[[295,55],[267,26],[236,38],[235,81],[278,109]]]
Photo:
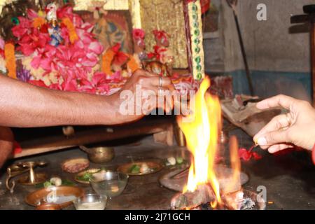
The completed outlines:
[[[283,142],[290,143],[290,139],[288,139],[288,130],[267,132],[257,139],[257,143],[262,149],[269,148],[266,146],[272,146]]]

